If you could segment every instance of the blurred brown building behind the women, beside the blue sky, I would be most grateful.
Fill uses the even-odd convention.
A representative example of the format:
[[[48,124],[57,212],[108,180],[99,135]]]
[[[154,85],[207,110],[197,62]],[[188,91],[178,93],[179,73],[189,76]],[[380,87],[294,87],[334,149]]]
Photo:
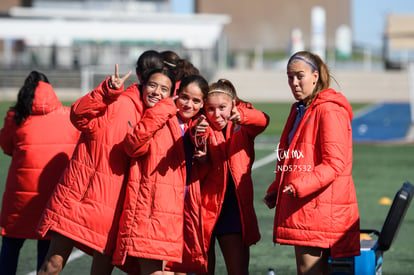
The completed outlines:
[[[335,47],[339,26],[351,26],[351,0],[199,0],[200,13],[228,14],[232,22],[224,27],[231,50],[288,51],[291,33],[302,32],[305,47],[311,43],[311,10],[320,6],[326,11],[326,41]]]

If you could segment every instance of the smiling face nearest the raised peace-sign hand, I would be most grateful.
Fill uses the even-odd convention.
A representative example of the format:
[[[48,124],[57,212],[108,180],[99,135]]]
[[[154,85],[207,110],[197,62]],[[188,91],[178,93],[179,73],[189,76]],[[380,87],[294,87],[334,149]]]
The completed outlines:
[[[170,96],[172,83],[171,80],[162,73],[155,73],[151,75],[147,83],[144,85],[142,93],[142,100],[148,108]]]

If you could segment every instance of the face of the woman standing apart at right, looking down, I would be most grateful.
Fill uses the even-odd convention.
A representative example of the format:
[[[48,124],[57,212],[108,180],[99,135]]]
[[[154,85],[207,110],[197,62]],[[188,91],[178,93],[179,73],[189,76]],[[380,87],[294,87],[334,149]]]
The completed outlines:
[[[290,89],[296,100],[302,100],[305,104],[315,89],[319,73],[312,72],[310,66],[302,60],[295,60],[287,67],[287,75]]]

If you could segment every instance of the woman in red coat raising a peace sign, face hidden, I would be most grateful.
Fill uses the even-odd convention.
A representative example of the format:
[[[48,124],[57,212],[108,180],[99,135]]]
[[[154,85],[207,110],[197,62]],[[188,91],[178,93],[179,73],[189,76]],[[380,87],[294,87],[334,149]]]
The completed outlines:
[[[39,274],[59,274],[74,246],[93,255],[91,274],[112,272],[130,163],[122,141],[148,107],[141,97],[148,71],[163,67],[155,51],[144,52],[137,65],[140,83],[124,90],[131,72],[120,77],[116,65],[114,75],[72,105],[71,120],[82,135],[39,224],[42,236],[52,235]]]

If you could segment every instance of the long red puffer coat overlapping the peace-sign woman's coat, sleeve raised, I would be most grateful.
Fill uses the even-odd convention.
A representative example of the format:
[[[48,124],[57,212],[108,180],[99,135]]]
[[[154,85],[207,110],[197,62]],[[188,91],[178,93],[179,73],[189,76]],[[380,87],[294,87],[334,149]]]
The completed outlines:
[[[182,130],[171,98],[148,108],[125,138],[133,157],[113,263],[181,261],[186,179]],[[127,259],[128,258],[128,259]]]

